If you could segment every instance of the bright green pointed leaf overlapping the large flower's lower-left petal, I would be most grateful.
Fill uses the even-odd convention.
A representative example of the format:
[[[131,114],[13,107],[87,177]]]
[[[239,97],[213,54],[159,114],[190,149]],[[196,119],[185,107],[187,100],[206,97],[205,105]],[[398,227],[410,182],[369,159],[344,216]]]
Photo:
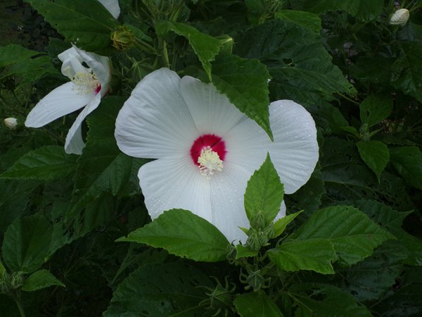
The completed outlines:
[[[214,225],[183,209],[165,211],[152,223],[117,241],[163,248],[187,259],[217,262],[226,259],[229,241]]]

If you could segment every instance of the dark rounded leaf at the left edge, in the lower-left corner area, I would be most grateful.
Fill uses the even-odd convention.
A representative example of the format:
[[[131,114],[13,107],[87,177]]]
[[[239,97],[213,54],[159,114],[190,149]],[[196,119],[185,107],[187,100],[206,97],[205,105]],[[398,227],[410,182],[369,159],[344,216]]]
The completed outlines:
[[[3,259],[11,271],[32,273],[49,256],[51,223],[40,215],[16,219],[4,233]]]

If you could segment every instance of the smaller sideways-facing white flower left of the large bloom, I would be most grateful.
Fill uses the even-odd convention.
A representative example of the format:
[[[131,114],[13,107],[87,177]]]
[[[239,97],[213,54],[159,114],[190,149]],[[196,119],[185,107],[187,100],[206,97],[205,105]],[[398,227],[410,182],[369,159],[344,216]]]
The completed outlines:
[[[53,89],[41,99],[28,114],[25,125],[39,128],[85,107],[70,128],[65,142],[66,153],[82,154],[85,145],[82,121],[98,107],[101,97],[108,92],[111,61],[108,57],[82,51],[76,46],[59,54],[58,58],[63,62],[61,72],[71,81]]]

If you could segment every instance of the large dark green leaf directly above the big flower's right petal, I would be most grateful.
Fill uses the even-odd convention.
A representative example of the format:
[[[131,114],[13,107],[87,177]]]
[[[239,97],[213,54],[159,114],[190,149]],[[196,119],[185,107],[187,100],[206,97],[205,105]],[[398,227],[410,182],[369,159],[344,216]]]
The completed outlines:
[[[335,93],[354,94],[314,32],[295,23],[273,20],[236,38],[236,54],[258,58],[272,77],[272,99],[291,99],[305,106],[330,101]]]

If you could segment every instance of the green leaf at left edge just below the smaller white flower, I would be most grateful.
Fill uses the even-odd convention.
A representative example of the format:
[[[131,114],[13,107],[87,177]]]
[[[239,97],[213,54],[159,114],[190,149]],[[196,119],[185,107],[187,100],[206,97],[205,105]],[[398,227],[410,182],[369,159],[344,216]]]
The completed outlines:
[[[40,147],[18,159],[0,178],[58,180],[75,173],[76,159],[76,155],[66,154],[63,147]]]

